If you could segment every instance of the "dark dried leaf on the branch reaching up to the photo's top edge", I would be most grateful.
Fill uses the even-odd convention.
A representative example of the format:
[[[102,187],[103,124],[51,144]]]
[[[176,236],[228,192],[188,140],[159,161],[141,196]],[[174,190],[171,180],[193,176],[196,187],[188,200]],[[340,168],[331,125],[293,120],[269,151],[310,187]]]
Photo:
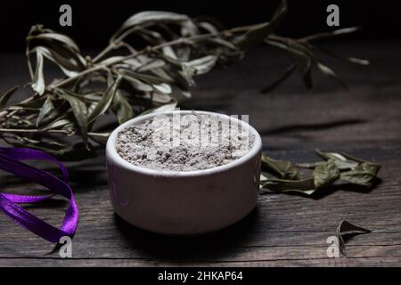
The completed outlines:
[[[244,35],[234,39],[234,45],[240,47],[242,50],[249,49],[258,43],[263,42],[267,36],[274,32],[282,22],[285,14],[287,13],[287,1],[282,0],[281,4],[274,12],[272,20],[262,23],[255,28],[251,28]]]

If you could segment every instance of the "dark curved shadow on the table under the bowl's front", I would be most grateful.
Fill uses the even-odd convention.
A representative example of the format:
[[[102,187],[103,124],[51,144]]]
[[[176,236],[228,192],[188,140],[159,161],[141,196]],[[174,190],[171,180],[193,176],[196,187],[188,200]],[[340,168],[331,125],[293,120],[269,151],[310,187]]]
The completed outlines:
[[[122,238],[144,258],[170,261],[210,261],[227,254],[233,248],[246,244],[249,233],[254,232],[258,208],[241,221],[223,230],[195,236],[168,236],[141,230],[115,215]],[[243,249],[242,249],[243,250]]]

